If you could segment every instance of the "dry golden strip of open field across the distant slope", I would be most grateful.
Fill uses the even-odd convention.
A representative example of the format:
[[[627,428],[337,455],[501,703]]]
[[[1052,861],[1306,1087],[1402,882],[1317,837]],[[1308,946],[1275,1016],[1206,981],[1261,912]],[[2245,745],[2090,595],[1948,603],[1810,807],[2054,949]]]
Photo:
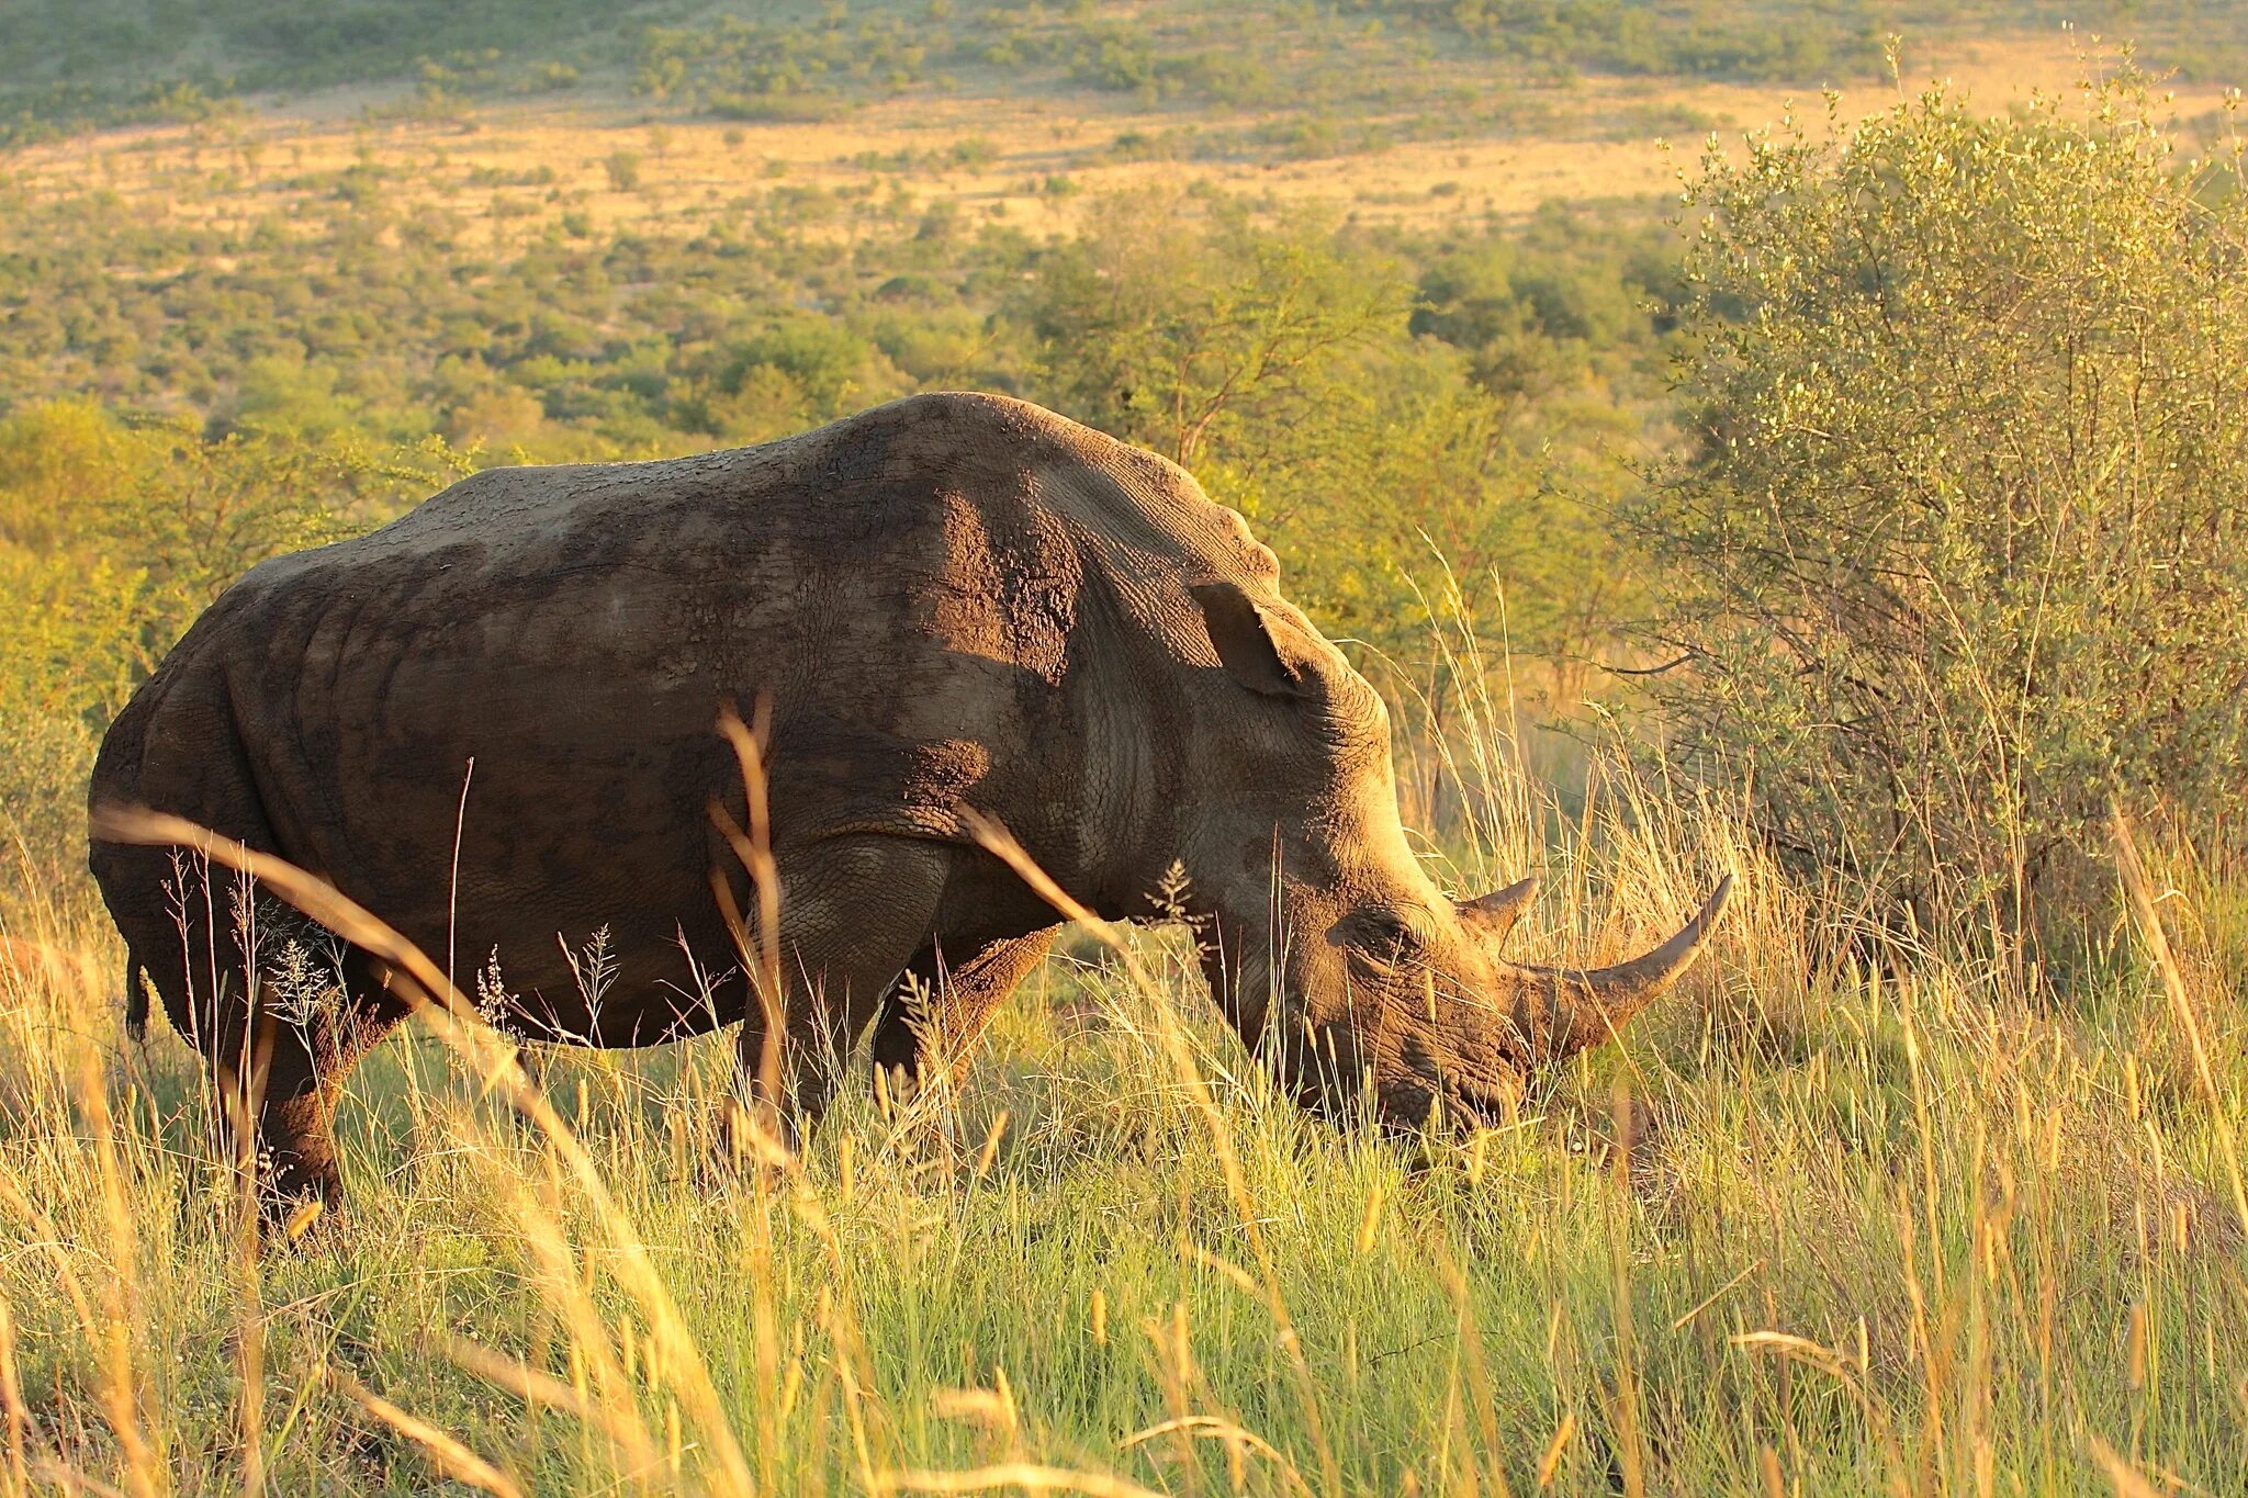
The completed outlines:
[[[1902,58],[1902,85],[1951,81],[1989,110],[2037,92],[2066,94],[2100,63],[2070,31],[1956,43]],[[1472,81],[1452,63],[1434,81]],[[1852,85],[1839,119],[1897,99]],[[2217,85],[2178,88],[2176,119],[2214,117]],[[0,157],[18,182],[76,193],[110,186],[128,202],[241,227],[288,220],[333,173],[373,162],[425,211],[481,222],[495,245],[562,213],[593,231],[632,227],[688,234],[755,211],[771,193],[825,191],[953,202],[1032,234],[1068,231],[1079,204],[1104,191],[1207,182],[1230,193],[1333,204],[1362,222],[1430,225],[1459,213],[1502,220],[1547,202],[1655,200],[1670,193],[1708,133],[1738,137],[1789,112],[1823,128],[1816,90],[1677,79],[1583,79],[1524,90],[1520,121],[1481,139],[1401,139],[1317,159],[1232,153],[1218,159],[1117,159],[1120,135],[1162,137],[1254,128],[1243,112],[1142,108],[1117,94],[1023,97],[1003,79],[953,94],[915,92],[818,124],[715,124],[656,117],[623,92],[587,90],[566,103],[495,103],[447,119],[414,119],[402,92],[335,90],[259,101],[200,126],[126,128]],[[1356,121],[1374,124],[1380,121]],[[609,159],[636,157],[620,189]],[[191,184],[191,193],[180,193]]]

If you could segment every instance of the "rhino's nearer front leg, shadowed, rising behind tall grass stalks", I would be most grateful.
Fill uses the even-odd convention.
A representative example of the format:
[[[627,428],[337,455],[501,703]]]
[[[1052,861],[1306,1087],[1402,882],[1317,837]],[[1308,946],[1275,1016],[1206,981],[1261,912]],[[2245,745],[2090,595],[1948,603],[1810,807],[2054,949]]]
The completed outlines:
[[[951,851],[908,838],[852,835],[782,858],[782,1002],[778,1044],[760,1017],[735,1049],[737,1105],[791,1150],[818,1127],[843,1062],[928,943]],[[731,1109],[728,1109],[731,1112]],[[728,1154],[740,1154],[735,1130]]]

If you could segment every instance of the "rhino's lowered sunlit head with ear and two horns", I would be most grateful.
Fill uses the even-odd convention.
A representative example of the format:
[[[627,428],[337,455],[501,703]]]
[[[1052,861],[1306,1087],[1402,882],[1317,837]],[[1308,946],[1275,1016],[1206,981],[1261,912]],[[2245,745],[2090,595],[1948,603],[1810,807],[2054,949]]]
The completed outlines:
[[[1522,880],[1445,898],[1398,822],[1389,719],[1340,651],[1277,597],[1194,588],[1221,669],[1196,773],[1223,795],[1189,844],[1214,921],[1212,990],[1243,1040],[1306,1107],[1421,1127],[1497,1121],[1529,1076],[1601,1044],[1693,963],[1731,876],[1675,937],[1632,961],[1538,968],[1506,934],[1535,894]]]

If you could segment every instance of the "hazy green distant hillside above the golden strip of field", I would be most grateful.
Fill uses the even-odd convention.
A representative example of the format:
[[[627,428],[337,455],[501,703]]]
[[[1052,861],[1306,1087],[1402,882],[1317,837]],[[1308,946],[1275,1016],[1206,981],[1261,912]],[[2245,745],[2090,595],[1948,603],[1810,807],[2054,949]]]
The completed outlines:
[[[629,90],[654,108],[805,119],[901,90],[1099,90],[1144,101],[1398,103],[1432,56],[1578,72],[1839,83],[1882,38],[2010,27],[2138,36],[2192,76],[2248,72],[2248,0],[11,0],[0,141],[196,119],[247,92],[378,85],[391,108]]]

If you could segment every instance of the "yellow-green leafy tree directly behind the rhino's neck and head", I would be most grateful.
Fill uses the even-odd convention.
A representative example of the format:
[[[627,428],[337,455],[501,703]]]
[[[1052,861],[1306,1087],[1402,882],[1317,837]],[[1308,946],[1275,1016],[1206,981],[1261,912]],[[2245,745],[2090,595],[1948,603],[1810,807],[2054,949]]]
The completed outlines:
[[[1351,254],[1308,222],[1257,227],[1245,204],[1124,198],[1007,312],[1034,339],[1041,400],[1243,510],[1374,674],[1423,676],[1430,622],[1495,620],[1502,595],[1508,638],[1486,645],[1574,665],[1637,591],[1598,519],[1610,429],[1569,400],[1623,415],[1652,395],[1650,299],[1668,285],[1657,234],[1596,252],[1567,245],[1580,227]]]

